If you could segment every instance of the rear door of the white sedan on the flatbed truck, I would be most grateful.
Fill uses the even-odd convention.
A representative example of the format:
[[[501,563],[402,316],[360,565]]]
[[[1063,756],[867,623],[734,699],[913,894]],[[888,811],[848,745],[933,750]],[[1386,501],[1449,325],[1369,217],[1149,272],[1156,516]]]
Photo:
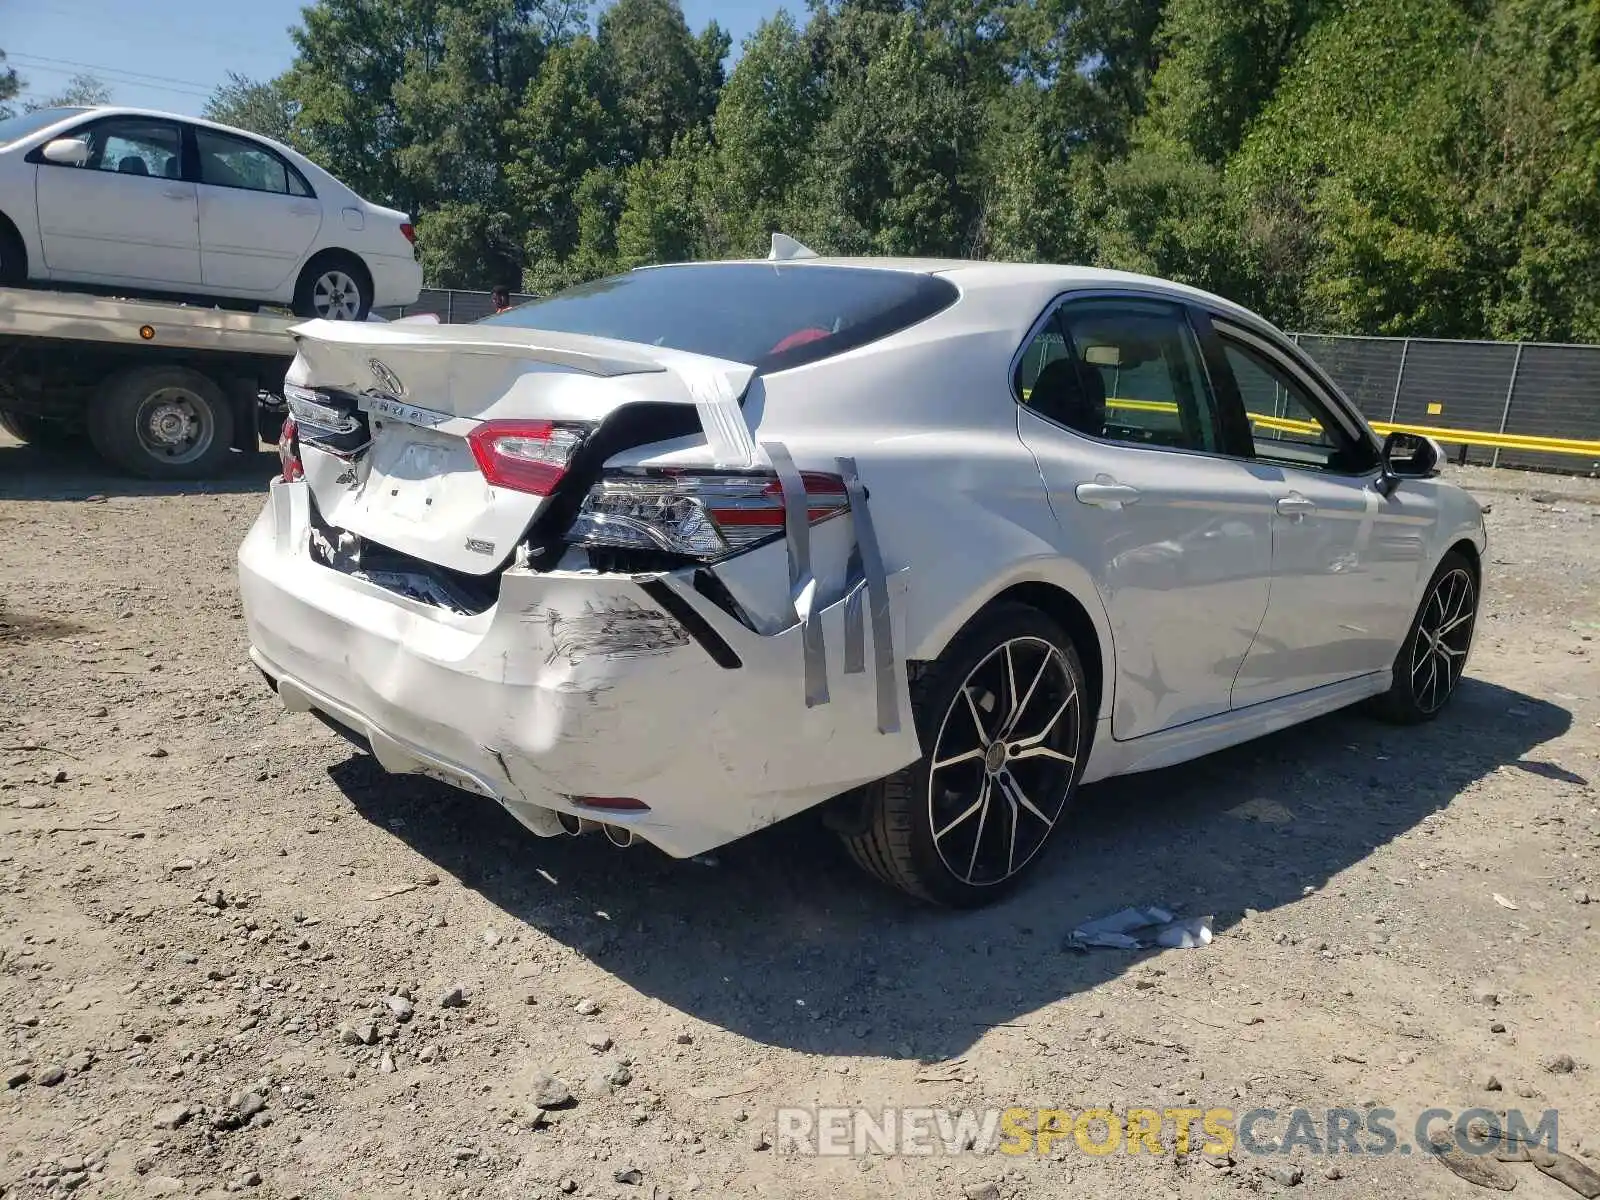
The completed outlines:
[[[246,138],[195,126],[194,146],[206,288],[282,290],[322,229],[310,184],[277,150]]]

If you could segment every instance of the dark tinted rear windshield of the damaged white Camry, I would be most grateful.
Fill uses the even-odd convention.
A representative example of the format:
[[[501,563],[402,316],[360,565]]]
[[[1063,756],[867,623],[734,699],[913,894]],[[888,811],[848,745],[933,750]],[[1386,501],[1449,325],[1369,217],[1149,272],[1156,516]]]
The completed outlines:
[[[616,338],[781,371],[904,330],[958,294],[949,280],[910,270],[694,262],[579,283],[483,323]]]

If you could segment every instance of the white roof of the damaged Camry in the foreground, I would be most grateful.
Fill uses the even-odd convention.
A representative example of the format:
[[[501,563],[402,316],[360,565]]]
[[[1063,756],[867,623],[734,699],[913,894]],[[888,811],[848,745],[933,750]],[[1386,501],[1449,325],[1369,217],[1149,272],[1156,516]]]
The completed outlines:
[[[960,258],[874,258],[874,256],[845,256],[845,254],[829,254],[814,258],[786,258],[786,259],[722,259],[723,262],[744,262],[750,266],[773,266],[781,264],[786,267],[858,267],[858,269],[877,269],[877,270],[901,270],[914,275],[941,275],[952,283],[955,283],[963,293],[997,293],[1008,291],[1014,288],[1022,288],[1027,291],[1080,291],[1094,288],[1115,288],[1115,290],[1131,290],[1131,291],[1149,291],[1163,296],[1171,296],[1176,299],[1186,299],[1205,309],[1216,310],[1224,315],[1238,317],[1253,325],[1262,325],[1272,328],[1267,322],[1256,312],[1235,304],[1230,299],[1218,296],[1202,288],[1194,288],[1187,283],[1178,283],[1170,278],[1160,278],[1157,275],[1139,275],[1131,270],[1109,270],[1106,267],[1083,267],[1074,264],[1059,262],[989,262],[981,259],[960,259]],[[670,264],[662,264],[670,266]],[[691,264],[680,264],[691,266]],[[709,266],[709,264],[693,264],[693,266]],[[651,270],[656,267],[642,267],[642,270]]]

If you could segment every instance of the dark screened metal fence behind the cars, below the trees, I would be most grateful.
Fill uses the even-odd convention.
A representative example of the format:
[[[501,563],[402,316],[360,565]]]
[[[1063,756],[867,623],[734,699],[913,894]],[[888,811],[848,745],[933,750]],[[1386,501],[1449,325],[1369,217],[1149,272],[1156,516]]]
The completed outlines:
[[[533,299],[517,293],[512,304]],[[450,323],[491,312],[490,293],[429,288],[382,317],[432,312]],[[1458,462],[1600,474],[1600,454],[1482,446],[1461,437],[1512,435],[1600,442],[1600,346],[1350,338],[1296,333],[1368,421],[1437,430]]]

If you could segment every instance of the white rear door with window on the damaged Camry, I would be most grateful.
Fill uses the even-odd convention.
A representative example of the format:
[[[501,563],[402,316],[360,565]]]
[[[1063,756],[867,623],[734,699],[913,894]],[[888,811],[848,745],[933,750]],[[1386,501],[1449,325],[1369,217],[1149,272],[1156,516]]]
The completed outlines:
[[[1272,498],[1229,458],[1189,310],[1061,302],[1016,366],[1059,550],[1094,578],[1114,638],[1112,736],[1227,712],[1267,611]]]

